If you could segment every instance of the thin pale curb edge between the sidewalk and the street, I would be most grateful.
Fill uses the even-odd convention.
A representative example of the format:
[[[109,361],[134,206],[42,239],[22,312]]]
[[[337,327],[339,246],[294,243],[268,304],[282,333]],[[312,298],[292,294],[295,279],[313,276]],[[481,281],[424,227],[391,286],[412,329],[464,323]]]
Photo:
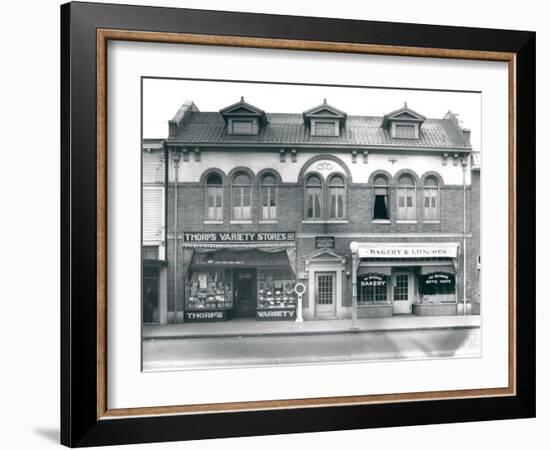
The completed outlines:
[[[318,336],[336,334],[361,334],[361,333],[389,333],[406,331],[431,331],[431,330],[467,330],[480,328],[479,325],[450,325],[443,327],[421,327],[421,328],[375,328],[369,330],[326,330],[326,331],[289,331],[289,332],[267,332],[267,333],[225,333],[225,334],[199,334],[199,335],[161,335],[145,336],[144,341],[174,340],[174,339],[219,339],[219,338],[244,338],[244,337],[276,337],[276,336]]]

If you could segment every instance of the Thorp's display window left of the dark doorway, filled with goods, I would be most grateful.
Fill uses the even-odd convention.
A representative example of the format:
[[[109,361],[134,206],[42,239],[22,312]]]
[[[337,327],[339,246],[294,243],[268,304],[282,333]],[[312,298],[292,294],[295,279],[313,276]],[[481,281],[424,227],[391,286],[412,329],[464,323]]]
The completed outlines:
[[[229,309],[233,307],[231,272],[209,269],[191,273],[186,309]]]

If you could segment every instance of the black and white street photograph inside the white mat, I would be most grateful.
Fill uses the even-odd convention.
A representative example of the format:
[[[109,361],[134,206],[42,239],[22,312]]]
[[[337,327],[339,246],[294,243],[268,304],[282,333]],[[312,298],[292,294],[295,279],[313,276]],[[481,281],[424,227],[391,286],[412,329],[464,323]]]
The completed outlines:
[[[481,356],[481,93],[143,77],[142,370]]]

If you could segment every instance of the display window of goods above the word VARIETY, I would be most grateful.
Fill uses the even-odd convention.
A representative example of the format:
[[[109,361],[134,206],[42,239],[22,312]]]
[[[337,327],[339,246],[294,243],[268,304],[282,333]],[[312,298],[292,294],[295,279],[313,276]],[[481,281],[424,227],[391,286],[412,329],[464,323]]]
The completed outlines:
[[[258,308],[296,308],[290,270],[258,270]]]

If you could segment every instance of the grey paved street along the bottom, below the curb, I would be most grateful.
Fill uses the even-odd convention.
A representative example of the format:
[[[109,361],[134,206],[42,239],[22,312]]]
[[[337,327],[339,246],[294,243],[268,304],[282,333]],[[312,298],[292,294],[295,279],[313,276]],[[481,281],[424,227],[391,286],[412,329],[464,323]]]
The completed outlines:
[[[477,357],[479,328],[143,341],[143,370]]]

